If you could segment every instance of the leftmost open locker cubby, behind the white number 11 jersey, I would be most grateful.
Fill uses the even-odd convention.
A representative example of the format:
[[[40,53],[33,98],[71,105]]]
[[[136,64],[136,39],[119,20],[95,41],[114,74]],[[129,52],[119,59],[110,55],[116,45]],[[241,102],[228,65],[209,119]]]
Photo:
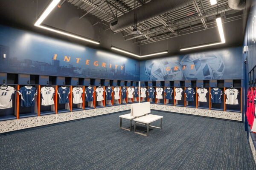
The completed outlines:
[[[11,86],[17,90],[17,85],[8,85],[8,86]],[[6,89],[6,87],[2,87],[2,88]],[[17,92],[15,92],[15,94],[12,94],[12,108],[0,109],[0,121],[17,119],[17,117],[15,116],[15,108],[16,108],[15,96],[17,96]]]

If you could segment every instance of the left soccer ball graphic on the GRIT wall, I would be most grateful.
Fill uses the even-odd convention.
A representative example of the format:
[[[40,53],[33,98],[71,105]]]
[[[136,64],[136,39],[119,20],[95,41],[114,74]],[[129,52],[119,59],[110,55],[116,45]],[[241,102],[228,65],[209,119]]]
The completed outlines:
[[[175,70],[175,67],[178,68]],[[166,68],[169,68],[169,71]],[[151,81],[177,80],[183,78],[183,70],[180,63],[174,59],[148,60],[145,62],[145,75]]]

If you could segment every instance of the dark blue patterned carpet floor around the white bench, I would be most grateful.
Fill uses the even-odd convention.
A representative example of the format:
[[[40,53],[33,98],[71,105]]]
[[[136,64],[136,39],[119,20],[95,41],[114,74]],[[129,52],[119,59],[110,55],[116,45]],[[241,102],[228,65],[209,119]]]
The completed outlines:
[[[163,129],[145,137],[119,129],[126,113],[0,136],[0,169],[256,170],[240,122],[152,111]]]

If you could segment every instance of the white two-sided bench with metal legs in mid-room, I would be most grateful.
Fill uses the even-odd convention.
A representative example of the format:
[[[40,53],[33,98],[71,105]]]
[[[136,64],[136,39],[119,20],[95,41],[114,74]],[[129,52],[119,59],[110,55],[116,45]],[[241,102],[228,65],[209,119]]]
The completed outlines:
[[[150,102],[143,102],[131,105],[131,113],[121,115],[120,118],[120,128],[131,131],[132,128],[132,120],[134,120],[134,132],[143,136],[148,136],[149,127],[155,127],[158,129],[162,129],[163,125],[163,116],[148,114],[150,113]],[[122,127],[122,118],[130,120],[130,129]],[[161,120],[160,127],[151,126],[150,123]],[[136,131],[136,124],[146,125],[147,133],[143,134]]]

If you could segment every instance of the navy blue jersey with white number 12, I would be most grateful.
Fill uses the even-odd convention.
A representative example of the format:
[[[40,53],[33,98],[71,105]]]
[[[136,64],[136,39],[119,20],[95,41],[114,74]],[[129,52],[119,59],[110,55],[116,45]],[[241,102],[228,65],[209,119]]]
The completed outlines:
[[[32,86],[24,86],[20,88],[18,93],[21,96],[22,107],[35,106],[35,95],[37,94],[36,88]]]

